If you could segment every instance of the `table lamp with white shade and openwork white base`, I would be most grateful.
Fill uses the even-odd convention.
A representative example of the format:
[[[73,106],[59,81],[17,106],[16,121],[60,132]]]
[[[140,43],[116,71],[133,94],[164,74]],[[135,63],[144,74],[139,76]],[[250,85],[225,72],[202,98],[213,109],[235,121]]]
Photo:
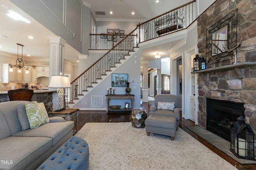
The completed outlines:
[[[52,75],[49,87],[58,88],[57,93],[57,110],[56,112],[63,111],[66,109],[66,105],[63,105],[64,102],[64,89],[71,88],[69,77],[64,75]]]

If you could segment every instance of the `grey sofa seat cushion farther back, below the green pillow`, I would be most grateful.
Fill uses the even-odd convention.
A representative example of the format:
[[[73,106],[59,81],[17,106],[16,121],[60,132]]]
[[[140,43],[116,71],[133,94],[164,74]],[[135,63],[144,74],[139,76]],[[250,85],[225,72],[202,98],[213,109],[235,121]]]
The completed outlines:
[[[12,136],[42,136],[52,138],[52,146],[74,127],[74,121],[47,123],[38,128],[23,130]]]

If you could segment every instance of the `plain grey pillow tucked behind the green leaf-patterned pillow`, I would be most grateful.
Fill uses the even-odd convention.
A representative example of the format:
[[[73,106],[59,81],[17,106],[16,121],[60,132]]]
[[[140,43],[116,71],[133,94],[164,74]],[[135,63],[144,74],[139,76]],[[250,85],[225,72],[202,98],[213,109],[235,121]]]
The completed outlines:
[[[37,103],[36,101],[32,101],[31,103]],[[25,103],[18,103],[17,104],[17,113],[18,119],[20,121],[20,125],[22,130],[27,130],[30,128],[28,117],[26,115]]]

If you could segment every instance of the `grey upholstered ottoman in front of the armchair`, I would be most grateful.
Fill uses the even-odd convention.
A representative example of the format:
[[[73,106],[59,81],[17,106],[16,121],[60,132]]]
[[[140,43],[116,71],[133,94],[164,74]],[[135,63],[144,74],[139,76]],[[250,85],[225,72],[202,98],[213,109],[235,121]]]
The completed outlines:
[[[171,137],[174,140],[176,134],[176,118],[170,116],[150,115],[145,120],[146,132],[163,134]]]

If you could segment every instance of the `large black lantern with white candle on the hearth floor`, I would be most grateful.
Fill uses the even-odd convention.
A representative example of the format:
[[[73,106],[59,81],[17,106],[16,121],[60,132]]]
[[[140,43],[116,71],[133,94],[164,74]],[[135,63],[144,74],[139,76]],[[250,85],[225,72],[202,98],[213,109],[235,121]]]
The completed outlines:
[[[237,158],[254,159],[254,133],[249,124],[241,116],[230,127],[230,151]]]

